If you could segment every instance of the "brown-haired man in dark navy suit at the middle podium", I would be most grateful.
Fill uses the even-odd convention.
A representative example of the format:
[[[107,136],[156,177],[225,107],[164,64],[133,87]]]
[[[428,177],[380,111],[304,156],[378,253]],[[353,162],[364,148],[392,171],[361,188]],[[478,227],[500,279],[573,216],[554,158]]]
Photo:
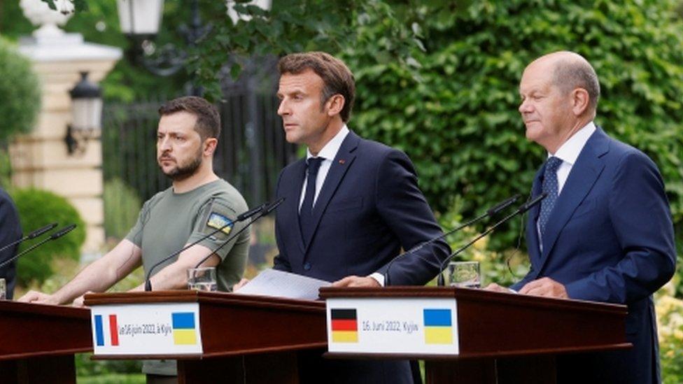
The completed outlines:
[[[442,231],[407,155],[346,127],[355,94],[351,71],[326,53],[308,52],[283,57],[279,72],[286,139],[306,145],[307,156],[280,173],[276,195],[286,200],[276,216],[275,268],[335,287],[423,285],[434,278],[449,254],[444,241],[400,257],[387,270],[401,249]],[[314,359],[302,364],[302,376],[327,383],[412,382],[401,361]]]

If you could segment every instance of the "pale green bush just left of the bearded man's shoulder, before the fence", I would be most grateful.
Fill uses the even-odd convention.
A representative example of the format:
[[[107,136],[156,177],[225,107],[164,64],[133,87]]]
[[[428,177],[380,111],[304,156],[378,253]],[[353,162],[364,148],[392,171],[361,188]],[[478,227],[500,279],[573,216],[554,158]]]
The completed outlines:
[[[135,190],[120,178],[104,183],[104,232],[123,239],[135,225],[142,203]]]

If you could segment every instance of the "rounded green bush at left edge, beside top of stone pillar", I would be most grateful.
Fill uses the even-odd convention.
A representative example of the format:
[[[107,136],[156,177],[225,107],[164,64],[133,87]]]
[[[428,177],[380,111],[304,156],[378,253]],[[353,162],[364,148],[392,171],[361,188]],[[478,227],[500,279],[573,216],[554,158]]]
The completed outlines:
[[[41,92],[31,63],[0,37],[0,141],[33,128]]]

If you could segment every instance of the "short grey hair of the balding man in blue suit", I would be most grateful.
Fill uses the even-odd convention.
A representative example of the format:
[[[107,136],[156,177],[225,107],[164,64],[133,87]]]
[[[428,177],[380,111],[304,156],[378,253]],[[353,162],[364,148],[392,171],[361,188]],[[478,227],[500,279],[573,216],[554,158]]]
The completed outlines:
[[[589,95],[589,106],[592,111],[596,111],[600,98],[600,83],[596,70],[585,59],[559,60],[555,64],[553,80],[555,85],[564,92],[570,92],[576,88],[586,90]]]

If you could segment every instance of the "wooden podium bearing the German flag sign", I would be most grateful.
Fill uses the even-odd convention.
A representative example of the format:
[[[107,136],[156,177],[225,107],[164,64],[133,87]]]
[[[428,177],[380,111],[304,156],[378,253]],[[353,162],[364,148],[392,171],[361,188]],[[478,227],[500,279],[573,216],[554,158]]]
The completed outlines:
[[[427,383],[555,383],[558,353],[631,347],[622,305],[454,287],[322,288],[321,297],[455,301],[458,355],[326,354],[425,360]]]

